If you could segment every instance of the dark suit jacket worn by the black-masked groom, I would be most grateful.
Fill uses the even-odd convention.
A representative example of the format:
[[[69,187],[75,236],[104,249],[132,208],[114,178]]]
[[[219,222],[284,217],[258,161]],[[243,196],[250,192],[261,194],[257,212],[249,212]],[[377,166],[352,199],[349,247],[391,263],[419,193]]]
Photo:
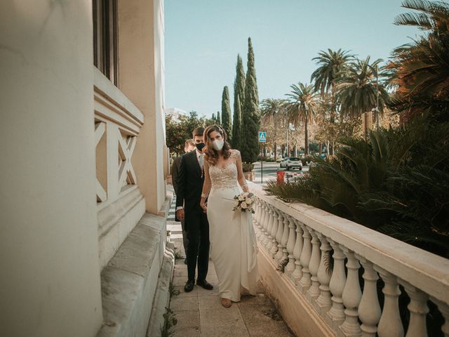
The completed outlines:
[[[177,177],[176,207],[184,203],[186,224],[192,216],[201,216],[199,206],[203,191],[204,175],[196,159],[196,150],[181,157],[180,171]]]

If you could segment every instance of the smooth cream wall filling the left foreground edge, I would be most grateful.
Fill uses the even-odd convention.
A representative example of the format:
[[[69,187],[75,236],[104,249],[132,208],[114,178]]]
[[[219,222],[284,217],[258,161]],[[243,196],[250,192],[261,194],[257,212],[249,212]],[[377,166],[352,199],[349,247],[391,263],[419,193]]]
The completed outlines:
[[[6,0],[0,18],[0,335],[95,336],[91,0]]]

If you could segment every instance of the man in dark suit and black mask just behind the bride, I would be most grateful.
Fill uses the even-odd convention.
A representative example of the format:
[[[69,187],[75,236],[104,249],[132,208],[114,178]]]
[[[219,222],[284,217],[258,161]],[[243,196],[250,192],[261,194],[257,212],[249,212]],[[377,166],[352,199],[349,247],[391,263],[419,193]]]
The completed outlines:
[[[209,263],[209,223],[206,213],[199,206],[204,183],[204,128],[195,128],[193,136],[196,150],[182,156],[177,178],[176,217],[184,220],[187,232],[187,282],[185,292],[192,291],[195,284],[196,263],[198,278],[196,284],[204,289],[213,289],[206,281]],[[182,206],[184,204],[184,207]]]

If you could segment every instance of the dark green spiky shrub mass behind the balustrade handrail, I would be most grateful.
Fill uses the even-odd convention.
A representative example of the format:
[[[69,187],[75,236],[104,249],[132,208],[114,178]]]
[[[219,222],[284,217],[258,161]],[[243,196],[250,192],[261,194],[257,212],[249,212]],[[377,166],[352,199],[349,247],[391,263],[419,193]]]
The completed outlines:
[[[420,119],[341,139],[332,161],[316,159],[307,176],[266,188],[448,258],[448,145],[448,123]]]

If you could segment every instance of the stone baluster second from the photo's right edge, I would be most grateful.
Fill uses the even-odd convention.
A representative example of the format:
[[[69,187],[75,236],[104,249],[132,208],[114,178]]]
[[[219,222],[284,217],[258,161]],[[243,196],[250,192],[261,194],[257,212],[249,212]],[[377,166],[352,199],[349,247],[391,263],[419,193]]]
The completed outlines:
[[[399,283],[403,285],[410,297],[410,303],[407,306],[410,311],[410,322],[406,337],[427,337],[426,315],[429,312],[427,307],[429,296],[406,281],[399,280]]]

